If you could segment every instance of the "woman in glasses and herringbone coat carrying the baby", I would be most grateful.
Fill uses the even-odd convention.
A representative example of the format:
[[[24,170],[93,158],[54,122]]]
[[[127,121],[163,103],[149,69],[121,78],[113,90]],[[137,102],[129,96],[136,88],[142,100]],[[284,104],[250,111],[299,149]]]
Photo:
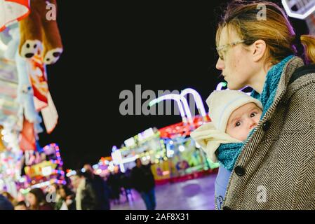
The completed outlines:
[[[216,202],[223,209],[315,209],[315,38],[297,36],[276,4],[259,3],[266,20],[258,3],[237,1],[217,29],[216,67],[227,87],[252,87],[264,110],[232,173],[220,167],[217,181],[227,190]]]

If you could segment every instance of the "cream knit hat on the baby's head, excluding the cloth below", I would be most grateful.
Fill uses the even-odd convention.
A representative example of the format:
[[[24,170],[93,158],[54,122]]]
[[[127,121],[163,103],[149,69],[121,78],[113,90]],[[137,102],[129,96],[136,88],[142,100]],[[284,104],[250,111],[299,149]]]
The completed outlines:
[[[209,107],[209,117],[217,130],[225,132],[229,116],[248,103],[254,103],[262,109],[262,103],[239,90],[213,91],[206,100]]]

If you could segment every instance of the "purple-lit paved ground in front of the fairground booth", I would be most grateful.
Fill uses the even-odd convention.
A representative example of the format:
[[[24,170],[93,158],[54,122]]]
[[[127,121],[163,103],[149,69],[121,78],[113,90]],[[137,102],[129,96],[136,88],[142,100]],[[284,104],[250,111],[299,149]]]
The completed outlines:
[[[214,182],[216,174],[180,183],[156,186],[157,210],[212,210],[214,209]],[[121,196],[121,204],[112,204],[113,210],[142,210],[145,204],[133,190],[133,200],[129,195]]]

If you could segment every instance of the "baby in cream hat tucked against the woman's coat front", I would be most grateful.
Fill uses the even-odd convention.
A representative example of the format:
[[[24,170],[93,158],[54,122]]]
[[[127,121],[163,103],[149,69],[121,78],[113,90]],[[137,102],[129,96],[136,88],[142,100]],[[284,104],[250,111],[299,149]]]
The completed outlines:
[[[201,125],[191,137],[211,161],[220,163],[215,180],[215,207],[221,209],[241,144],[257,127],[262,116],[262,103],[238,90],[214,91],[206,102],[211,122]],[[228,145],[222,145],[223,149],[217,151],[221,144]],[[224,149],[223,146],[227,147]]]

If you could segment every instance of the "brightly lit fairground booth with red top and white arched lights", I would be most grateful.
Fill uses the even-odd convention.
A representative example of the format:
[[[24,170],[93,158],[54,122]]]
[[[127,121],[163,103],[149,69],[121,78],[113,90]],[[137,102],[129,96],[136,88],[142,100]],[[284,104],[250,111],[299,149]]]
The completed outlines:
[[[220,85],[224,86],[222,83]],[[185,98],[187,94],[192,95],[199,115],[192,116]],[[185,89],[181,94],[166,94],[154,99],[149,106],[166,100],[177,104],[182,122],[160,129],[150,127],[126,139],[121,148],[113,146],[110,160],[100,160],[97,165],[93,165],[96,168],[95,173],[108,174],[114,169],[126,172],[135,166],[137,158],[140,158],[144,165],[151,163],[157,183],[193,179],[216,172],[218,164],[210,162],[200,146],[190,137],[192,131],[210,121],[199,93],[193,89]],[[71,171],[67,175],[71,175]]]

